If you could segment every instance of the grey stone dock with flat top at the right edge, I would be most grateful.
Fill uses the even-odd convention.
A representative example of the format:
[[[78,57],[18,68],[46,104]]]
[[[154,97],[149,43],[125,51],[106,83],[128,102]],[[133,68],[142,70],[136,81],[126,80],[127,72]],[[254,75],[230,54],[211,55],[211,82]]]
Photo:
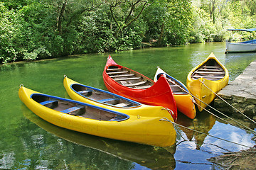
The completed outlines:
[[[245,113],[250,118],[256,119],[256,60],[251,62],[248,67],[234,81],[225,86],[218,95],[232,106]],[[238,113],[228,106],[220,98],[215,98],[214,106],[218,111],[224,113]]]

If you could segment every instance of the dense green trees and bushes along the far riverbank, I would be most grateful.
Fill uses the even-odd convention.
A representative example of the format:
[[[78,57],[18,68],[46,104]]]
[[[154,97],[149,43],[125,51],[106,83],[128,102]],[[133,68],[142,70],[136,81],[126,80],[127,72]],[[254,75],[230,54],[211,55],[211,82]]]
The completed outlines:
[[[3,0],[0,62],[223,41],[256,28],[255,0]],[[235,35],[250,39],[252,34]]]

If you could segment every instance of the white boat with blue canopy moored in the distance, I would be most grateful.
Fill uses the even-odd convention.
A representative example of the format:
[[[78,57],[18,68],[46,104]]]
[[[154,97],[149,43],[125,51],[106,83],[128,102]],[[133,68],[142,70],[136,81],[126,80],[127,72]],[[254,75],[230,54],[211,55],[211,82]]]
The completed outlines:
[[[240,30],[247,32],[254,32],[256,28],[252,29],[228,29],[231,31]],[[247,40],[243,42],[229,42],[230,40],[226,40],[226,49],[225,54],[230,52],[256,52],[256,39],[255,40]]]

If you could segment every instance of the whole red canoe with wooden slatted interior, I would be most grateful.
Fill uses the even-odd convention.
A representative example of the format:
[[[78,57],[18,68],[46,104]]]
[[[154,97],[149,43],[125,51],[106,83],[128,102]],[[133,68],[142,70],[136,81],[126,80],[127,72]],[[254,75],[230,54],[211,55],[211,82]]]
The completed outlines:
[[[176,103],[164,76],[155,83],[132,69],[120,66],[109,56],[103,71],[103,80],[107,89],[114,94],[147,105],[169,108],[172,117],[176,120]]]

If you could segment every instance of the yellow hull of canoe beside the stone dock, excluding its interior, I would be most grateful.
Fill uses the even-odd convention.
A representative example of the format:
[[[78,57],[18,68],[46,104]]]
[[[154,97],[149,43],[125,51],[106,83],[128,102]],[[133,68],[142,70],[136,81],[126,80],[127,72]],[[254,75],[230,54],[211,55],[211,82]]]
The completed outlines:
[[[215,62],[217,62],[220,67],[222,67],[225,71],[225,76],[222,79],[214,81],[202,77],[199,79],[192,79],[191,75],[193,74],[193,72],[195,72],[196,69],[205,64],[208,60],[215,60]],[[199,111],[203,111],[203,108],[206,108],[206,106],[208,106],[208,104],[210,104],[216,97],[215,94],[223,89],[223,87],[228,85],[228,79],[228,69],[226,69],[225,66],[218,61],[213,52],[204,62],[199,64],[197,67],[192,69],[191,72],[188,73],[187,87],[190,93],[194,96]]]

